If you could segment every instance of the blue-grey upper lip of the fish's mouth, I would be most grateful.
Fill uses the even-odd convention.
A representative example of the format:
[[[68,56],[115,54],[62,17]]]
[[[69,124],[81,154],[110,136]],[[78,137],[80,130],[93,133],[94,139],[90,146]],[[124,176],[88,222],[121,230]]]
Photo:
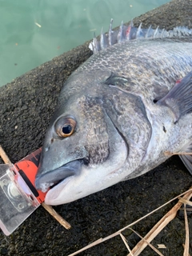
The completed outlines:
[[[67,162],[65,165],[62,165],[57,169],[50,170],[45,174],[38,174],[35,178],[35,187],[37,190],[46,192],[54,186],[58,186],[58,184],[63,182],[66,178],[80,174],[81,169],[81,159]]]

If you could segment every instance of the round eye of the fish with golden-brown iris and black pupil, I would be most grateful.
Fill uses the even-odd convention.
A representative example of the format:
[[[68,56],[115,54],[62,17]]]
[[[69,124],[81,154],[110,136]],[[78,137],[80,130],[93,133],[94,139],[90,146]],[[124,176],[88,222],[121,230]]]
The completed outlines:
[[[74,133],[76,121],[72,117],[59,118],[55,123],[55,130],[59,137],[70,137]]]

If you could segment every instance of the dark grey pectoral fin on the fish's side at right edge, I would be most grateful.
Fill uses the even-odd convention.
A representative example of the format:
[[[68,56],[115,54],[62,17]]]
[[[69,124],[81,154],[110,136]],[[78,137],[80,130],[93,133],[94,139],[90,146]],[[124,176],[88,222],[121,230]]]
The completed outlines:
[[[169,106],[174,113],[174,123],[183,115],[192,112],[192,71],[175,83],[174,87],[156,104]]]

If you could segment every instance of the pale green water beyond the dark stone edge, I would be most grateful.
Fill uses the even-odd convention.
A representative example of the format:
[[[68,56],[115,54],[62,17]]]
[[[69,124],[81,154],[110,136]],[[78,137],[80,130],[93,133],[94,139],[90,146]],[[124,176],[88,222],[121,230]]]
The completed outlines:
[[[0,86],[170,0],[0,0]]]

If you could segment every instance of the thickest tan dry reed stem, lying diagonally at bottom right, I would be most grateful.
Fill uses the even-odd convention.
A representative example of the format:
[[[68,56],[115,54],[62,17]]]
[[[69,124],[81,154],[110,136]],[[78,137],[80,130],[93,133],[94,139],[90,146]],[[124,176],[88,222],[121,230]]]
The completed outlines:
[[[190,199],[192,197],[192,192],[188,192],[183,196],[183,199]],[[162,219],[150,230],[148,234],[144,237],[147,242],[151,242],[156,235],[158,235],[161,230],[170,222],[174,217],[176,216],[179,208],[182,206],[182,202],[178,202],[165,216],[162,217]],[[145,241],[138,242],[137,246],[134,247],[134,249],[131,251],[134,256],[139,255],[142,250],[144,250],[147,246],[147,243]],[[130,254],[129,254],[130,256]]]

